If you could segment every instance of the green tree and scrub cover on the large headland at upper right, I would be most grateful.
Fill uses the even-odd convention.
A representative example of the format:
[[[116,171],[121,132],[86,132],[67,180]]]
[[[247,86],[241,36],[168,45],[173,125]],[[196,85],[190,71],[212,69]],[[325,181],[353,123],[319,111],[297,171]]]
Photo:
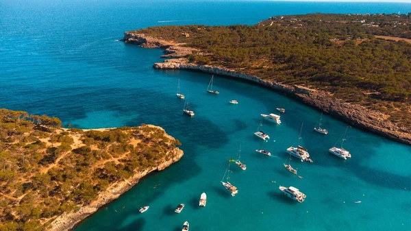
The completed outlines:
[[[411,44],[374,37],[411,38],[411,14],[275,16],[252,26],[165,26],[135,33],[199,49],[190,62],[325,90],[411,127]]]

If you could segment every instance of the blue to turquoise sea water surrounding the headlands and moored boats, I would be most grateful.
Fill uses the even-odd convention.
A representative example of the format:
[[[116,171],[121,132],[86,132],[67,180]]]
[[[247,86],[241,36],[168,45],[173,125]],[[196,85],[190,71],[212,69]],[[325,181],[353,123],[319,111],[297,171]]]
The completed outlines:
[[[57,116],[77,127],[153,123],[182,141],[185,156],[165,171],[99,210],[75,230],[411,230],[411,148],[352,128],[341,160],[327,149],[345,123],[323,116],[329,135],[312,131],[320,112],[283,95],[216,76],[220,95],[206,93],[210,75],[151,68],[160,49],[117,41],[129,29],[201,23],[255,24],[277,14],[308,12],[408,12],[406,3],[288,3],[232,1],[0,1],[0,107]],[[182,115],[177,80],[195,110]],[[238,105],[228,103],[237,99]],[[281,125],[262,127],[271,139],[255,136],[260,113],[286,108]],[[292,160],[303,179],[282,163],[285,149],[301,143],[313,164]],[[227,160],[242,144],[246,171],[232,166],[231,197],[220,183]],[[269,149],[262,156],[254,149]],[[307,195],[297,204],[278,186]],[[404,189],[406,188],[406,190]],[[202,192],[206,208],[199,208]],[[355,204],[355,201],[362,201]],[[344,203],[345,202],[345,203]],[[177,204],[186,208],[173,212]],[[140,206],[150,209],[140,215]]]

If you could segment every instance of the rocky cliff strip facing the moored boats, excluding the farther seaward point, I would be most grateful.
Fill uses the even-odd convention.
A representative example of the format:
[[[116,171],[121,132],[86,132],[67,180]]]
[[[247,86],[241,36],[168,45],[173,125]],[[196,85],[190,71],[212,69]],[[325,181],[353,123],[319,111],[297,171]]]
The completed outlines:
[[[164,60],[164,62],[153,64],[153,67],[155,69],[187,69],[192,71],[202,71],[254,82],[291,95],[292,97],[355,127],[392,138],[395,141],[411,144],[411,131],[406,127],[398,127],[394,123],[384,119],[386,115],[369,110],[364,106],[349,104],[339,99],[335,99],[332,97],[332,94],[325,93],[321,90],[313,90],[303,86],[289,86],[273,80],[262,80],[255,75],[247,75],[221,66],[197,65],[188,62],[185,58]]]

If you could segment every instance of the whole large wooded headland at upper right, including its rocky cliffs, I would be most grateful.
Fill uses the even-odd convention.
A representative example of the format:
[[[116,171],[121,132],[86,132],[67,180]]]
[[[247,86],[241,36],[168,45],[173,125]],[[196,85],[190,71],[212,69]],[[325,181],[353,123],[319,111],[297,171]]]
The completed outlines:
[[[125,32],[164,49],[156,69],[246,80],[395,141],[411,144],[411,14],[274,16],[257,25]]]

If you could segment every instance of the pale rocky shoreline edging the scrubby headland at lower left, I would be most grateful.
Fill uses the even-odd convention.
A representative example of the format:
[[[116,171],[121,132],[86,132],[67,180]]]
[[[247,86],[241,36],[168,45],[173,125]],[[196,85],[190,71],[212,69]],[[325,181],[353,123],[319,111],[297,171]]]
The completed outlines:
[[[151,127],[157,127],[161,130],[162,127],[158,127],[155,125],[149,125]],[[170,139],[174,140],[172,136],[167,135]],[[177,162],[182,158],[184,155],[184,152],[181,149],[178,149],[177,147],[171,151],[169,151],[169,160],[164,160],[160,165],[157,167],[152,167],[151,169],[146,169],[145,171],[142,172],[136,172],[131,178],[121,181],[121,182],[116,182],[112,184],[106,191],[103,191],[99,193],[99,196],[97,199],[92,201],[88,206],[83,206],[80,211],[72,211],[72,212],[64,212],[62,215],[57,217],[56,219],[51,222],[49,228],[47,230],[50,231],[61,231],[61,230],[73,230],[75,226],[86,219],[86,217],[92,215],[94,212],[99,210],[99,208],[102,208],[103,206],[110,204],[110,202],[114,201],[114,199],[117,199],[123,193],[129,191],[129,189],[132,189],[134,185],[136,185],[141,178],[145,177],[145,175],[148,175],[149,173],[153,171],[162,171],[166,169],[166,167],[169,167],[173,163]]]

